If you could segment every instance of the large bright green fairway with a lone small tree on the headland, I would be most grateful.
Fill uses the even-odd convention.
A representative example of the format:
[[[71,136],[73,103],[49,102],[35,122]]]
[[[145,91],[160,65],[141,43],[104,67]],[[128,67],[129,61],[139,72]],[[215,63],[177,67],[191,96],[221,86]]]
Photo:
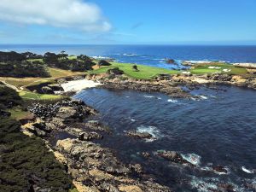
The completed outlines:
[[[160,68],[160,67],[149,67],[149,66],[144,66],[144,65],[137,65],[138,72],[135,72],[132,69],[132,66],[134,64],[131,63],[117,63],[113,62],[111,66],[108,67],[101,67],[99,69],[96,69],[90,73],[106,73],[108,69],[114,68],[114,67],[119,67],[120,70],[123,70],[125,74],[131,78],[134,79],[152,79],[156,77],[159,74],[177,74],[180,73],[177,70],[169,70],[165,68]]]

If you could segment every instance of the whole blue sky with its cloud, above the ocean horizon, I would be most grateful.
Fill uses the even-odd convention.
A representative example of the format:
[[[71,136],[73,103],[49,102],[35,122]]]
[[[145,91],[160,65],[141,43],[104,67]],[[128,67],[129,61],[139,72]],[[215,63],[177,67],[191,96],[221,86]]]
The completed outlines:
[[[1,0],[0,44],[256,44],[256,0]]]

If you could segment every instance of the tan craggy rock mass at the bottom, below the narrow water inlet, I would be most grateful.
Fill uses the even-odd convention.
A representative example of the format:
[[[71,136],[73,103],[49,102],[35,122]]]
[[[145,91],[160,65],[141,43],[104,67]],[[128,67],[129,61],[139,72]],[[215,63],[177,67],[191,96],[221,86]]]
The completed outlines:
[[[56,148],[67,159],[69,172],[88,191],[170,191],[160,184],[131,178],[131,172],[143,172],[142,166],[125,166],[110,149],[96,143],[65,139],[59,140]]]

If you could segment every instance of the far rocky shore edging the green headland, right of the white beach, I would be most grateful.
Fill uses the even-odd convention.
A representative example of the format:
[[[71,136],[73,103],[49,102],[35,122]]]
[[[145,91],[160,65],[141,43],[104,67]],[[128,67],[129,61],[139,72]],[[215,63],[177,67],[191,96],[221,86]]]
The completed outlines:
[[[184,91],[179,85],[196,87],[201,84],[228,84],[239,87],[247,87],[256,90],[255,76],[240,76],[230,74],[160,74],[152,80],[137,80],[115,75],[109,78],[108,74],[88,75],[86,79],[96,80],[102,83],[99,87],[117,90],[140,90],[148,92],[162,92],[172,97],[189,98],[188,92]]]

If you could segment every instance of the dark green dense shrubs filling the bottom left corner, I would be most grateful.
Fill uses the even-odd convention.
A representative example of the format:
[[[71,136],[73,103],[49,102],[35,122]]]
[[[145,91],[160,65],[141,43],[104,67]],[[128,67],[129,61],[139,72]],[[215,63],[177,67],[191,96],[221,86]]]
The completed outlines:
[[[22,112],[24,102],[15,90],[0,85],[0,189],[1,191],[68,191],[73,189],[65,172],[42,139],[27,137],[9,111]],[[16,109],[15,109],[16,108]]]

